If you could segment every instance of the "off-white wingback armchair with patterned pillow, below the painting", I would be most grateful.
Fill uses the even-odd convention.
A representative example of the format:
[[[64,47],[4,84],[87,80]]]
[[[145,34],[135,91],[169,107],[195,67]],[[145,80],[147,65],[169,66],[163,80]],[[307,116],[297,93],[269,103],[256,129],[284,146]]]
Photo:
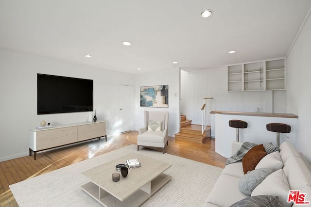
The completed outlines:
[[[138,130],[137,151],[139,146],[160,147],[168,145],[168,120],[167,111],[145,111],[145,127]]]

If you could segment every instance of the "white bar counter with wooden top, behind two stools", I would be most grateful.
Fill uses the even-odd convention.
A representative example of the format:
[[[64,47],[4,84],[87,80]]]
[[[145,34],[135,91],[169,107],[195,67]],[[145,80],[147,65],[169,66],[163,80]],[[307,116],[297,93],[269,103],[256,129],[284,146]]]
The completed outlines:
[[[238,119],[247,122],[247,128],[240,129],[240,142],[268,143],[276,145],[276,132],[268,131],[269,123],[283,123],[291,126],[291,132],[280,135],[280,143],[288,141],[295,146],[298,116],[293,113],[266,113],[242,111],[211,111],[211,136],[215,137],[215,151],[230,157],[231,143],[236,141],[236,128],[229,127],[229,120]]]

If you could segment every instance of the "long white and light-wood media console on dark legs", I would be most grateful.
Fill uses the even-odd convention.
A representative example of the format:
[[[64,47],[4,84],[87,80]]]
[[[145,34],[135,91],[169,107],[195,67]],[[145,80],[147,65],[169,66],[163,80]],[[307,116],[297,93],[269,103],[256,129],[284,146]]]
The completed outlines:
[[[29,156],[34,152],[36,159],[38,151],[101,137],[105,137],[107,142],[105,121],[57,125],[45,129],[31,128]]]

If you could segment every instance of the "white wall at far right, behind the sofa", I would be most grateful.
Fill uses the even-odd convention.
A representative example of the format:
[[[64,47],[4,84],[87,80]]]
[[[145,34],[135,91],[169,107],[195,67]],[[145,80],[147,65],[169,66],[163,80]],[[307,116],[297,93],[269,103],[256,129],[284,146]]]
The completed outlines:
[[[309,13],[310,15],[310,13]],[[298,115],[296,148],[311,161],[311,17],[287,57],[286,112]]]

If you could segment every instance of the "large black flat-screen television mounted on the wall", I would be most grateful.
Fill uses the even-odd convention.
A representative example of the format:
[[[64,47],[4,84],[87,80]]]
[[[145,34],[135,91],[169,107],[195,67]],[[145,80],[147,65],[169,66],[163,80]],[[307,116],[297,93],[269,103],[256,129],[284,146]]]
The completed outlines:
[[[93,111],[93,80],[37,74],[37,114]]]

